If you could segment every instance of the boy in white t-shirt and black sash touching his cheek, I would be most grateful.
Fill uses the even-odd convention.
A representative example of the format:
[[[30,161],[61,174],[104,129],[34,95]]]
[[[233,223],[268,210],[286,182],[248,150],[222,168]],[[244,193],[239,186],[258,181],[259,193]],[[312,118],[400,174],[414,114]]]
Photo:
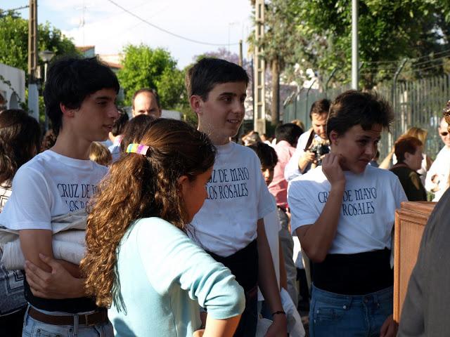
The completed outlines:
[[[328,114],[330,154],[290,182],[292,230],[314,266],[311,337],[395,336],[392,228],[407,199],[397,176],[368,166],[392,120],[382,98],[342,93]]]

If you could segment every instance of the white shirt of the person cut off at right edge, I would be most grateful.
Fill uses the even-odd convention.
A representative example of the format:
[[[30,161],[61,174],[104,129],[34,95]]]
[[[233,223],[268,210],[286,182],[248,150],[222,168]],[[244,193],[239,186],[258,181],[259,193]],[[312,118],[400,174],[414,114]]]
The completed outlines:
[[[450,173],[450,147],[442,147],[442,150],[436,156],[436,160],[430,166],[430,170],[427,172],[427,177],[425,178],[425,189],[430,191],[435,187],[435,183],[432,183],[432,176],[437,175],[437,180],[439,183],[439,191],[435,193],[435,199],[433,201],[439,201],[442,194],[449,187],[449,173]]]

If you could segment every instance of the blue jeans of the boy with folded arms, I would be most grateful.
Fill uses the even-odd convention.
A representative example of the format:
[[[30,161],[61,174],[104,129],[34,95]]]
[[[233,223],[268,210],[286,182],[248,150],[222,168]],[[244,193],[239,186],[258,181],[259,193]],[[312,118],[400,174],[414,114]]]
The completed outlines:
[[[45,324],[35,320],[28,315],[28,310],[25,313],[23,321],[22,337],[113,337],[113,325],[108,323],[96,324],[94,326],[86,326],[78,324],[74,315],[74,324],[72,325],[53,325]],[[58,316],[57,312],[47,312],[39,310],[44,313]],[[67,315],[67,314],[65,314]]]

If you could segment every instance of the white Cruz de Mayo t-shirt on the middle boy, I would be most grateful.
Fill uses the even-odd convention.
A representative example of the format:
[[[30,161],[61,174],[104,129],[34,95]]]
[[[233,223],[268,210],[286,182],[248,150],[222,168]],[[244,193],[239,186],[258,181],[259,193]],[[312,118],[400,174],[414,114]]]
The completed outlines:
[[[276,208],[255,152],[230,142],[217,146],[208,197],[192,220],[191,237],[207,251],[227,257],[257,237],[257,220]]]

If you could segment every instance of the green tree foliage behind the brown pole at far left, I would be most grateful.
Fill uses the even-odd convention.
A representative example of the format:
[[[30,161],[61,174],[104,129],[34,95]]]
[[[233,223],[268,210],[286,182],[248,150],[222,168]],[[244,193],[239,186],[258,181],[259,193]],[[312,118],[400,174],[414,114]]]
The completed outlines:
[[[71,39],[65,37],[60,29],[51,27],[49,22],[37,27],[39,51],[49,50],[58,55],[77,55]],[[0,62],[11,67],[28,70],[28,20],[13,12],[0,12]],[[38,61],[43,67],[44,62]]]

